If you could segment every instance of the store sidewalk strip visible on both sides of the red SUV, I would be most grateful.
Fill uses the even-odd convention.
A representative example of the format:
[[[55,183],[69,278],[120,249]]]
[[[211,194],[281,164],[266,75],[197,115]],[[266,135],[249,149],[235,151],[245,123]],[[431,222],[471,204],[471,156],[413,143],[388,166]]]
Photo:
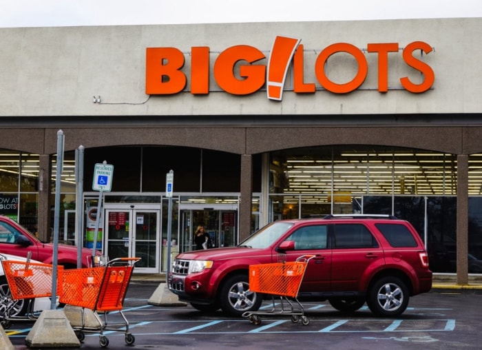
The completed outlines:
[[[133,282],[165,283],[166,274],[132,274]],[[469,276],[468,285],[457,285],[457,276],[434,275],[432,289],[482,289],[482,276]]]

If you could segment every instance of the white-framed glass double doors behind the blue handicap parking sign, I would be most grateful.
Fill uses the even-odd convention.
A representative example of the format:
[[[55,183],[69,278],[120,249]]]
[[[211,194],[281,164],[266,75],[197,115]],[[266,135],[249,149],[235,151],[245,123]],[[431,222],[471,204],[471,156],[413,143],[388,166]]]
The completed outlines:
[[[105,255],[137,257],[136,271],[159,271],[159,210],[106,209]]]

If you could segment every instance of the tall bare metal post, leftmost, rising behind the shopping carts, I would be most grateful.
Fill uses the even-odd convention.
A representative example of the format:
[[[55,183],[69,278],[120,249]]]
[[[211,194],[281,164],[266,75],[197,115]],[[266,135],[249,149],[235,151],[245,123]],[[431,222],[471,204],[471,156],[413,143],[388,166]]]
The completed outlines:
[[[57,295],[57,260],[59,251],[59,219],[60,219],[60,197],[61,197],[61,175],[63,171],[63,131],[57,132],[57,163],[55,174],[55,209],[54,209],[54,254],[52,256],[52,298],[50,298],[50,309],[56,309]]]

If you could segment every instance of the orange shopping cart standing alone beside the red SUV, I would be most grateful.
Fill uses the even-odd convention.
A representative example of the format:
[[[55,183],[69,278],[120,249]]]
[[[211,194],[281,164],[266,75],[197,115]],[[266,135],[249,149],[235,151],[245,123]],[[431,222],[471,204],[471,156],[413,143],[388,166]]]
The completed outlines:
[[[260,325],[260,316],[289,315],[293,323],[308,325],[304,309],[297,299],[306,266],[313,255],[300,256],[293,262],[258,264],[249,266],[249,290],[272,296],[273,308],[269,311],[247,311],[242,314],[249,322]],[[280,302],[275,302],[279,296]]]

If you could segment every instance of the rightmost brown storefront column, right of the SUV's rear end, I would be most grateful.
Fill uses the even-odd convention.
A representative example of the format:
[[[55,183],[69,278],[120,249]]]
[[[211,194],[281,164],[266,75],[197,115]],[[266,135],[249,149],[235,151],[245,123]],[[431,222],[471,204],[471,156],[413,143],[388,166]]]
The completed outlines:
[[[457,284],[468,285],[468,156],[457,156]]]

